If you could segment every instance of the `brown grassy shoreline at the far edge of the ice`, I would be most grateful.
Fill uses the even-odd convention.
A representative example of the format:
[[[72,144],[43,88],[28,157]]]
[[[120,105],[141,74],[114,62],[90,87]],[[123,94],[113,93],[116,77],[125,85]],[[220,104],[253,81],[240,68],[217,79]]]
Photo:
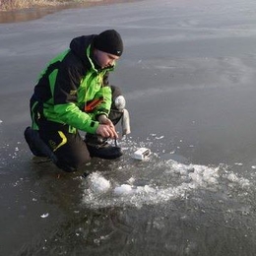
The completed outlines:
[[[32,2],[34,1],[36,1],[37,4],[30,5],[27,3],[26,7],[17,7],[12,9],[10,6],[9,10],[3,10],[2,6],[5,0],[2,0],[0,5],[0,24],[31,21],[64,9],[89,8],[110,4],[137,2],[138,0],[81,0],[79,2],[75,0],[56,0],[53,2],[48,0],[33,0]],[[12,0],[6,0],[6,2],[11,3]]]

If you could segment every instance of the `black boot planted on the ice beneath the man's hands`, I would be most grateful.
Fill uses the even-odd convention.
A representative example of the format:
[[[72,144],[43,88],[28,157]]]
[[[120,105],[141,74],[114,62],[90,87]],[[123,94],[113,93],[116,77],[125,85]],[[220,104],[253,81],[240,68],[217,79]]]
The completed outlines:
[[[123,155],[120,147],[108,144],[107,139],[103,139],[98,135],[87,134],[85,143],[91,158],[114,160]]]

